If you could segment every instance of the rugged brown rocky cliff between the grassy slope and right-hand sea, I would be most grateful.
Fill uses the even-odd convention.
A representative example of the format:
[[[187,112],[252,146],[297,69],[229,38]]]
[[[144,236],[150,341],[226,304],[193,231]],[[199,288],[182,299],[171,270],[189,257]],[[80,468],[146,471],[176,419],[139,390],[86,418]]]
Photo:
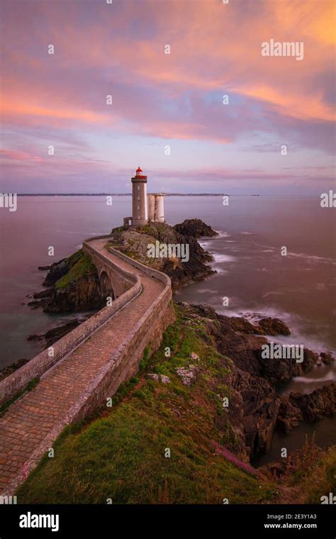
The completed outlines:
[[[284,397],[277,393],[276,384],[308,372],[318,360],[318,354],[306,349],[301,364],[291,360],[262,359],[261,347],[268,341],[259,333],[271,330],[272,335],[276,335],[276,331],[288,335],[289,328],[284,323],[276,318],[267,318],[264,327],[260,327],[245,318],[219,315],[211,306],[181,305],[190,321],[197,323],[198,318],[206,320],[207,331],[203,338],[233,361],[230,374],[225,379],[230,388],[227,414],[240,452],[245,446],[250,459],[269,450],[276,428],[288,432],[306,418],[308,421],[312,421],[313,417],[322,418],[335,409],[335,387],[325,387],[311,395],[291,394]],[[181,374],[184,375],[187,369],[182,370]],[[213,385],[215,392],[217,383]],[[307,408],[306,412],[304,408]],[[225,417],[218,416],[215,426],[218,430],[227,429]]]

